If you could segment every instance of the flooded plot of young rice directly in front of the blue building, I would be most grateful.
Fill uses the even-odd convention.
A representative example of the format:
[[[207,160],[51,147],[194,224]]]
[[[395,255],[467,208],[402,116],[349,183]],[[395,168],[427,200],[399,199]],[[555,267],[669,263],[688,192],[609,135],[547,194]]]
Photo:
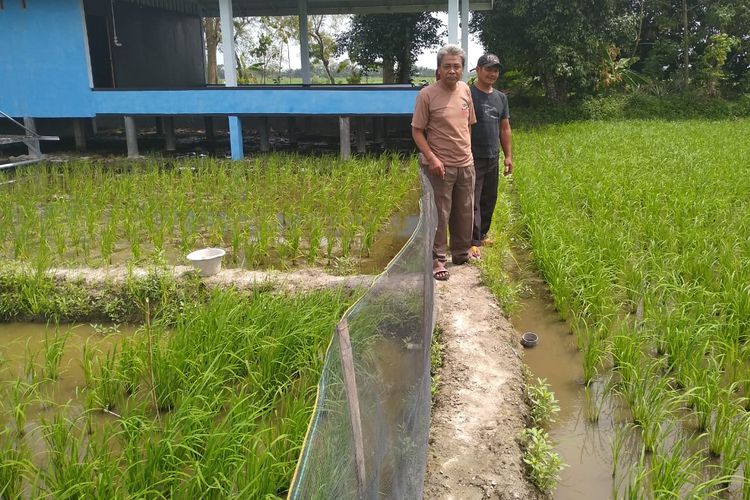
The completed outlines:
[[[216,246],[246,269],[359,260],[394,214],[418,212],[416,171],[399,156],[270,155],[0,172],[0,257],[36,269],[178,264]]]

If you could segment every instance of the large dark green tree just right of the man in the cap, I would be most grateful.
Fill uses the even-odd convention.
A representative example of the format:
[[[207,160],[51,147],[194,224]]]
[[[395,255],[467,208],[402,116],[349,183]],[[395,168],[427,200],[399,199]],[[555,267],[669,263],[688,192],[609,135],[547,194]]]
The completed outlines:
[[[538,78],[548,98],[591,91],[610,45],[636,38],[637,15],[626,0],[495,0],[471,29],[506,69]]]

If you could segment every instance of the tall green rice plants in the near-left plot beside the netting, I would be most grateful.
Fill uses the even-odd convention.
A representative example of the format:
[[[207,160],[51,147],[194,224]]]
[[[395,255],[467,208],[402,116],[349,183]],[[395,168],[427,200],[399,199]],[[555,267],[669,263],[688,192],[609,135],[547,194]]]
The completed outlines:
[[[35,297],[72,286],[13,276],[14,290],[27,290],[14,296],[23,299],[14,310],[24,319],[37,317],[27,309]],[[118,317],[140,318],[134,333],[98,326],[110,340],[101,349],[99,333],[90,339],[97,341],[72,345],[63,327],[51,328],[39,356],[27,352],[0,368],[3,498],[283,496],[332,329],[351,297],[207,290],[198,280],[165,276],[133,279],[116,291],[138,305],[118,310]],[[50,299],[51,311],[40,304],[33,313],[110,314],[94,310],[107,303],[104,296],[83,302],[63,308]],[[76,348],[80,379],[77,367],[60,363]],[[58,381],[73,392],[60,393]]]

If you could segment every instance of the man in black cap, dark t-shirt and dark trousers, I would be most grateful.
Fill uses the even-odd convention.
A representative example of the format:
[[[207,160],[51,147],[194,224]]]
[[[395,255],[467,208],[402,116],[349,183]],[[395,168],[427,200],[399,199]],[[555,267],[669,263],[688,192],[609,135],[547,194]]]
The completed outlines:
[[[489,245],[487,233],[497,202],[500,148],[503,149],[503,174],[513,172],[510,114],[508,98],[493,85],[500,76],[500,59],[495,54],[485,54],[477,61],[477,78],[471,86],[471,97],[477,123],[471,128],[471,151],[474,156],[476,183],[474,188],[474,231],[471,252],[481,256],[479,247]]]

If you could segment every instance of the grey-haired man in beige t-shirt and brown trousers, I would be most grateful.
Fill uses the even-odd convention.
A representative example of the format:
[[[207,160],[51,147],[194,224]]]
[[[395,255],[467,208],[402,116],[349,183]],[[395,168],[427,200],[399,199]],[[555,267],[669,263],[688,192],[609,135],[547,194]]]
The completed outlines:
[[[469,86],[461,81],[466,57],[456,45],[437,54],[439,79],[417,96],[411,127],[420,151],[420,167],[435,191],[438,225],[432,247],[432,273],[447,280],[448,229],[451,260],[456,265],[471,255],[474,217],[474,159],[471,125],[476,123]]]

